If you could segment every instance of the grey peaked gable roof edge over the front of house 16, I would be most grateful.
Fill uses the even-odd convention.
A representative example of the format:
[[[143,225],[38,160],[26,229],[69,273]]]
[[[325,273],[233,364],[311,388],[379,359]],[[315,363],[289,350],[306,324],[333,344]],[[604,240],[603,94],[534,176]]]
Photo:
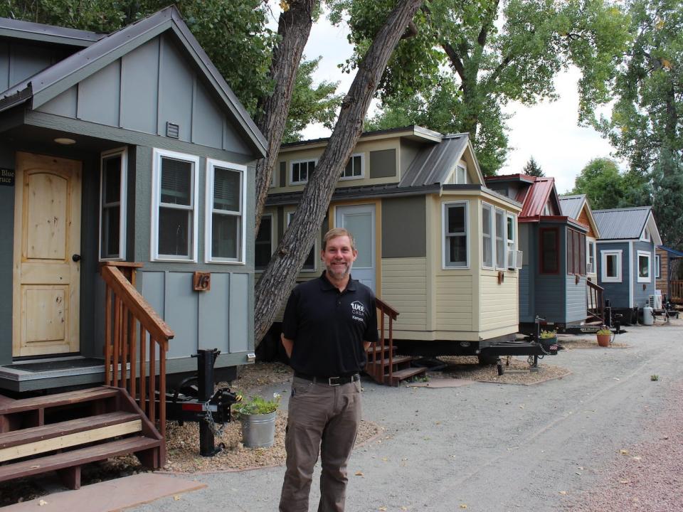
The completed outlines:
[[[33,23],[34,30],[38,26],[40,26],[38,23]],[[53,31],[58,30],[58,28],[52,29]],[[200,70],[204,82],[216,93],[216,97],[220,100],[228,117],[243,128],[253,148],[265,156],[268,145],[265,137],[256,127],[221,73],[218,72],[216,66],[211,63],[208,55],[194,38],[175,6],[166,7],[166,9],[132,23],[120,31],[103,36],[87,48],[60,60],[55,65],[36,73],[36,75],[17,85],[13,85],[8,90],[0,92],[0,112],[29,100],[31,108],[36,109],[166,31],[171,31],[174,34],[176,41],[185,50],[189,60]]]

